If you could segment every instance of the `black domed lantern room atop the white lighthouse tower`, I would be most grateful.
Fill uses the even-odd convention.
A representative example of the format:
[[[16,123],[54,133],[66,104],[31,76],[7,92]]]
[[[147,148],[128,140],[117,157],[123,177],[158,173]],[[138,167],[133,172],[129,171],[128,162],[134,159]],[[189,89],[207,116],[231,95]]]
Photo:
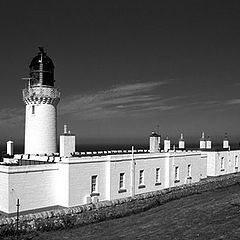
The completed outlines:
[[[39,47],[39,53],[34,57],[29,65],[31,85],[34,86],[54,86],[54,64],[50,57]]]

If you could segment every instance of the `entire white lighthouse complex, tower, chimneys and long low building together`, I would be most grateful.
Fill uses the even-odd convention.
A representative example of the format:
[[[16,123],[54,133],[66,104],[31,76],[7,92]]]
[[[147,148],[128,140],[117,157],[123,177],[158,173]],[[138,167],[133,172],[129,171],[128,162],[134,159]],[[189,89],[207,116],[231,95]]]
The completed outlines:
[[[35,59],[35,58],[34,58]],[[160,149],[160,135],[152,133],[149,150],[75,152],[75,135],[64,127],[60,154],[56,152],[56,106],[53,64],[41,49],[30,65],[26,103],[25,154],[15,154],[0,164],[0,211],[16,212],[56,206],[71,207],[102,200],[134,196],[198,182],[208,176],[239,171],[240,150],[211,151],[204,134],[200,150],[180,150],[170,140]],[[45,60],[44,60],[45,59]],[[42,65],[41,65],[42,64]],[[33,67],[33,68],[32,68]],[[37,72],[34,72],[37,69]],[[45,71],[46,70],[46,71]],[[202,141],[202,144],[201,144]],[[204,145],[204,146],[203,146]],[[8,142],[13,155],[13,143]],[[225,146],[225,145],[224,145]]]

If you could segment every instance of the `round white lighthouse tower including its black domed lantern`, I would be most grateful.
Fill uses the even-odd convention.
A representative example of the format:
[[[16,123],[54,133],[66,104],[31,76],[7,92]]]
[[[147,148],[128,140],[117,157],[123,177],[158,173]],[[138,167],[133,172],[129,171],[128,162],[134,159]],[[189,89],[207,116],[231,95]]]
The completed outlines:
[[[26,104],[25,154],[52,154],[57,145],[57,104],[60,92],[54,88],[54,65],[43,48],[32,59],[30,78],[23,89]]]

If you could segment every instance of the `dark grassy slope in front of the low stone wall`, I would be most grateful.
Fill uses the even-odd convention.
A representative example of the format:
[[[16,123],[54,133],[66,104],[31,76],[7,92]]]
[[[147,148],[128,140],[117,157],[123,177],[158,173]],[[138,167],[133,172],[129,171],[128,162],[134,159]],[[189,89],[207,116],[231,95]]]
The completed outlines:
[[[174,200],[124,218],[20,239],[240,239],[240,185]]]

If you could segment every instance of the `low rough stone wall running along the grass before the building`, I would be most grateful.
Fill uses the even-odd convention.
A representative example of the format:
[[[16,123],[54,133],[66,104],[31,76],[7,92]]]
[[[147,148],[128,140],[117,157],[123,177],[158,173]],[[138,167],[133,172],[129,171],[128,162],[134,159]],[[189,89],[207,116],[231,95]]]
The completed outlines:
[[[106,219],[139,213],[174,199],[239,183],[240,173],[236,173],[206,179],[190,185],[143,193],[134,197],[28,214],[20,216],[19,229],[22,233],[27,233],[81,226]],[[0,219],[0,236],[13,235],[15,233],[16,217]]]

